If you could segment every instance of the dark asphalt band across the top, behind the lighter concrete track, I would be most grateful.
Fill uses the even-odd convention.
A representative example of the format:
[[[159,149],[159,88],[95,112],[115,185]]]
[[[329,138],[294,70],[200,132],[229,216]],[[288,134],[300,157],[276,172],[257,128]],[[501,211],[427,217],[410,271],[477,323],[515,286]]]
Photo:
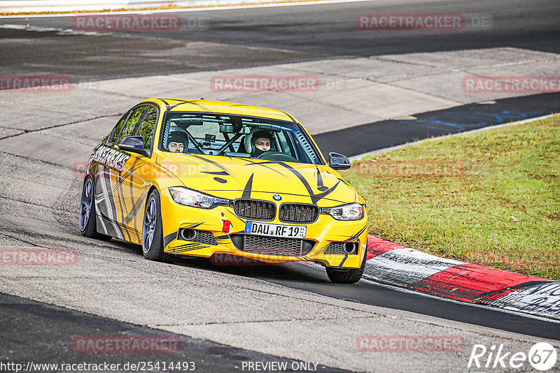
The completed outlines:
[[[491,15],[492,28],[442,33],[356,29],[363,13],[468,13]],[[180,31],[133,31],[107,36],[64,36],[57,31],[0,29],[4,74],[50,73],[99,80],[234,68],[286,61],[369,57],[384,54],[520,47],[560,52],[557,1],[365,1],[321,6],[254,8],[178,13],[183,24],[203,19],[204,27]],[[207,21],[207,22],[206,22]],[[72,17],[3,19],[1,24],[71,29]],[[10,39],[13,42],[10,42]],[[162,40],[163,39],[163,40]],[[162,51],[183,46],[172,54]],[[155,59],[154,57],[158,57]],[[32,60],[32,62],[31,62]]]

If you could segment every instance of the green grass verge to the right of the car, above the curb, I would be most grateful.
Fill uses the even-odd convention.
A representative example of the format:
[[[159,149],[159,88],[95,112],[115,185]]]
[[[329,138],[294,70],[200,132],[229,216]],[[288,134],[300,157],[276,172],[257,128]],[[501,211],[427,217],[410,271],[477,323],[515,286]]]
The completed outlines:
[[[560,116],[433,138],[342,173],[367,201],[370,234],[556,280],[559,174]]]

